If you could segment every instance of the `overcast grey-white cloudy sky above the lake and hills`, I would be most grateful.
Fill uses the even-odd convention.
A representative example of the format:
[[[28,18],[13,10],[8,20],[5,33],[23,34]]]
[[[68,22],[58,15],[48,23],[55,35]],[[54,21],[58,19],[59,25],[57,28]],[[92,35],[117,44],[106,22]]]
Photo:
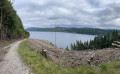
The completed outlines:
[[[15,0],[25,28],[120,28],[120,0]]]

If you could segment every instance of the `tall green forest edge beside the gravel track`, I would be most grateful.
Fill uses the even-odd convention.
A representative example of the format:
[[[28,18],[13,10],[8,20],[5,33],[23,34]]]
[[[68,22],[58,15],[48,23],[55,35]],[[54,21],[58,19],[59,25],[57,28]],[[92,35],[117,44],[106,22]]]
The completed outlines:
[[[0,38],[15,39],[29,37],[10,0],[0,0]]]

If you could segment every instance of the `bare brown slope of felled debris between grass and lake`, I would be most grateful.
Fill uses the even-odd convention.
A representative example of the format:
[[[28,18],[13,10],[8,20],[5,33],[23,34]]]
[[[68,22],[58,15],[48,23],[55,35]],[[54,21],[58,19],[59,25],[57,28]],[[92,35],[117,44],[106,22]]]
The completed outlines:
[[[41,53],[46,59],[63,66],[79,67],[80,65],[98,65],[103,62],[120,60],[119,48],[102,50],[65,51],[52,46],[49,42],[38,39],[28,39],[29,48]],[[43,52],[45,51],[45,52]]]

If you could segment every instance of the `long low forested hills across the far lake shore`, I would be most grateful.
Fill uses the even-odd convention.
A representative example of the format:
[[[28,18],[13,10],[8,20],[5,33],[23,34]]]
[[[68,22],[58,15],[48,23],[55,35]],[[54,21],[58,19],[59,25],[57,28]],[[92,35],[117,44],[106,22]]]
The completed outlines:
[[[105,30],[105,29],[98,29],[98,28],[66,28],[66,27],[56,27],[56,28],[31,27],[31,28],[27,28],[26,30],[27,31],[46,31],[46,32],[56,31],[56,32],[68,32],[68,33],[89,34],[89,35],[106,34],[107,32],[112,33],[113,31],[113,30]]]

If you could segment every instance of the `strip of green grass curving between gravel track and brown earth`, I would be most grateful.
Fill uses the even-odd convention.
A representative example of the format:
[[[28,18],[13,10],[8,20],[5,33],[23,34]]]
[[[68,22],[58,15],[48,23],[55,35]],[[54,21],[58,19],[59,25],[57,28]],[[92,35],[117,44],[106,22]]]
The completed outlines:
[[[19,45],[19,54],[23,61],[35,74],[120,74],[120,62],[103,63],[100,67],[80,66],[79,68],[63,68],[28,48],[25,40]]]

